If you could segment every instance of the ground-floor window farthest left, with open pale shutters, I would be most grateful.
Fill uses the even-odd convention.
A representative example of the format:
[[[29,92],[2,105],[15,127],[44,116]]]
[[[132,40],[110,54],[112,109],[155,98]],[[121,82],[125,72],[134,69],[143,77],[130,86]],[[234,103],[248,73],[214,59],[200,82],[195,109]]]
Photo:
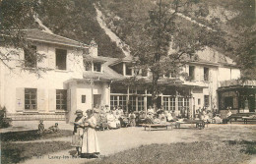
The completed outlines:
[[[25,109],[36,110],[37,108],[37,89],[25,88]]]

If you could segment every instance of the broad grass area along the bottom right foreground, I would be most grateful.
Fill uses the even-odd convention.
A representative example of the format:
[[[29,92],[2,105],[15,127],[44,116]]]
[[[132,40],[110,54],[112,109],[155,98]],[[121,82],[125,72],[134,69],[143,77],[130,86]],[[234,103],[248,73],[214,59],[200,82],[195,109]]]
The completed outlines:
[[[151,144],[96,159],[90,164],[238,164],[249,160],[255,150],[256,142],[250,141]]]

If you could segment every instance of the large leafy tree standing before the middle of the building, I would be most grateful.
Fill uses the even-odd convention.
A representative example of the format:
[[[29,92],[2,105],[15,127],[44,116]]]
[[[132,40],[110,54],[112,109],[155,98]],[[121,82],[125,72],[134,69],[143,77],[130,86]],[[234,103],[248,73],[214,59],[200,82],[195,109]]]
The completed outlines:
[[[136,67],[152,72],[152,101],[155,108],[160,93],[160,77],[170,73],[181,76],[182,67],[188,60],[195,59],[195,52],[212,44],[209,37],[219,35],[217,31],[188,24],[177,17],[178,12],[184,12],[192,3],[197,2],[160,0],[158,7],[149,12],[144,32],[134,37],[136,44],[132,46],[132,52],[138,58]]]

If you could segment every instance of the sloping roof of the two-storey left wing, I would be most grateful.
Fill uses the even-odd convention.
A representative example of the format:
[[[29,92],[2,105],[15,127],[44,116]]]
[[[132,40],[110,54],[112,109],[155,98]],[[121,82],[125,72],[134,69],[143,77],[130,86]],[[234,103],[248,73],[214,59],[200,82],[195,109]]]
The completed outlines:
[[[72,46],[72,47],[79,47],[79,48],[85,48],[89,47],[89,45],[86,45],[82,42],[63,37],[57,34],[49,33],[44,30],[40,29],[23,29],[22,30],[26,37],[28,39],[31,39],[33,41],[42,41],[47,43],[55,43],[55,44],[61,44],[66,46]]]

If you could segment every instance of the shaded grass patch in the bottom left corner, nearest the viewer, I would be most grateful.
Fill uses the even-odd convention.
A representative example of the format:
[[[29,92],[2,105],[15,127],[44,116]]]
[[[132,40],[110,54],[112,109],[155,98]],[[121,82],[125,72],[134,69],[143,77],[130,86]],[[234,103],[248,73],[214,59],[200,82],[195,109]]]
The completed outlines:
[[[71,143],[65,141],[45,141],[29,143],[1,143],[1,162],[20,163],[33,156],[41,156],[59,150],[70,149]]]

